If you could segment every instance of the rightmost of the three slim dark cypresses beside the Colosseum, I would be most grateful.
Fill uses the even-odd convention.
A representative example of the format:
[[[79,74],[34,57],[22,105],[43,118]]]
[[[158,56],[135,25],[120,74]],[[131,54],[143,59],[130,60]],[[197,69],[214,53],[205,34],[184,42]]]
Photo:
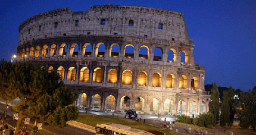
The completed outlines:
[[[232,86],[229,87],[227,90],[227,98],[229,102],[229,123],[227,123],[229,126],[233,125],[234,119],[235,119],[235,99],[234,99],[235,93],[232,89]]]

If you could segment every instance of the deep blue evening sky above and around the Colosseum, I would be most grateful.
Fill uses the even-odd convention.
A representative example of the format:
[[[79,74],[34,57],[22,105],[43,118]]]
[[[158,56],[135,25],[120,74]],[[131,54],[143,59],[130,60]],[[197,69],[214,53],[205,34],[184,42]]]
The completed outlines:
[[[195,62],[205,67],[205,84],[247,91],[256,86],[256,1],[38,1],[0,0],[0,58],[10,60],[18,45],[18,26],[41,12],[117,4],[183,12],[193,39]]]

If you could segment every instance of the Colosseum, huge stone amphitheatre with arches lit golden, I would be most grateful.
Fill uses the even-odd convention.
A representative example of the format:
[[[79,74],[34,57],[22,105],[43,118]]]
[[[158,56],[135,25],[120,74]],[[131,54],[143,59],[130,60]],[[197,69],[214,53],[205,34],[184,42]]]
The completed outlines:
[[[79,108],[208,112],[205,70],[194,62],[181,12],[112,4],[63,8],[27,18],[18,32],[17,61],[57,71],[78,90]]]

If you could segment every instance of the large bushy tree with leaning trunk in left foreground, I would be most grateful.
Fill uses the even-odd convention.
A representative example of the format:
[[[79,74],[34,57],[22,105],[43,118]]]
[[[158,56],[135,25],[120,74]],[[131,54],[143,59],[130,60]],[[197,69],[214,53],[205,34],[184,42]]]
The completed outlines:
[[[77,99],[77,92],[64,86],[63,81],[59,82],[60,76],[55,71],[48,73],[48,71],[42,71],[28,62],[20,62],[15,64],[14,77],[15,89],[18,91],[17,97],[20,99],[20,103],[13,107],[20,114],[15,134],[18,134],[24,117],[40,118],[45,117],[46,114],[54,114],[55,110],[61,110]],[[76,108],[65,108],[65,111],[67,114],[77,113],[77,111],[73,111],[77,110]],[[75,114],[75,116],[77,115]],[[61,117],[66,116],[61,115]],[[74,117],[69,118],[73,120]],[[64,120],[63,123],[65,123],[70,119],[61,120]]]

